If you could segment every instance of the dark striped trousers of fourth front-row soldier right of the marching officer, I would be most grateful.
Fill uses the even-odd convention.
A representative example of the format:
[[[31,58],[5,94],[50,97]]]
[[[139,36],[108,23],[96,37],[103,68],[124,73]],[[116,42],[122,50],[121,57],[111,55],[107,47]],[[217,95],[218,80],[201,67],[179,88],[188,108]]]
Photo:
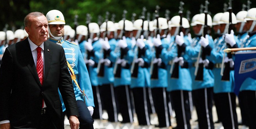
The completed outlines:
[[[147,93],[145,87],[132,88],[135,112],[139,125],[150,125],[149,111],[147,109]]]

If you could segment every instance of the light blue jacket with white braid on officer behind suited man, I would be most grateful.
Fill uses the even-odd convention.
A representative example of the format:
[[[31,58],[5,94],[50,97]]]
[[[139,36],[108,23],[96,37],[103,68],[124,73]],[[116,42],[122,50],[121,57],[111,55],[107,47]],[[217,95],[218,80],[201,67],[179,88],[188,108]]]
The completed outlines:
[[[49,39],[49,41],[57,43],[58,41]],[[73,68],[73,71],[75,72],[76,75],[76,81],[78,82],[79,87],[81,90],[85,92],[86,96],[83,96],[83,93],[79,90],[78,86],[73,82],[73,88],[75,91],[75,97],[76,101],[81,100],[86,102],[87,106],[92,106],[94,107],[94,99],[93,99],[93,94],[92,94],[92,87],[91,87],[91,82],[89,80],[89,74],[86,68],[86,65],[83,60],[83,55],[81,51],[79,50],[79,46],[72,44],[68,41],[63,41],[62,39],[62,47],[65,51],[65,56],[66,60],[68,63],[70,63],[70,66]],[[60,92],[59,92],[60,94]],[[60,94],[61,96],[61,94]],[[62,101],[62,109],[63,111],[66,110],[65,105],[63,103],[62,97],[60,97]]]

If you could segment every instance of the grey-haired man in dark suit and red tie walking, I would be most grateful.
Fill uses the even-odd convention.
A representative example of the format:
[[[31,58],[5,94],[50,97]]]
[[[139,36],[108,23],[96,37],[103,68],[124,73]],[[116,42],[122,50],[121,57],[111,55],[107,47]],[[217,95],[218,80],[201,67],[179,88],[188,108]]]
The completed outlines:
[[[71,129],[78,129],[76,99],[65,52],[47,41],[48,22],[39,12],[24,19],[29,37],[6,48],[0,68],[1,129],[64,129],[62,104]]]

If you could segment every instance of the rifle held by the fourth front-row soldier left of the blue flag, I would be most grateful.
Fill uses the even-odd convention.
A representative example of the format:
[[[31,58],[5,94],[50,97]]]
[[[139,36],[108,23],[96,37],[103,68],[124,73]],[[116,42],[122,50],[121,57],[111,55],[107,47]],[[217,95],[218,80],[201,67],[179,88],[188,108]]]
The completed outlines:
[[[160,7],[157,5],[156,6],[156,37],[157,35],[159,34],[159,21],[158,21],[158,18],[159,18],[159,9]],[[154,50],[155,53],[156,53],[156,50]],[[155,58],[159,58],[159,55],[156,55],[155,57],[152,56],[152,59],[151,59],[151,66],[150,66],[150,74],[151,74],[151,79],[158,79],[158,64],[157,63],[153,63],[154,59]]]

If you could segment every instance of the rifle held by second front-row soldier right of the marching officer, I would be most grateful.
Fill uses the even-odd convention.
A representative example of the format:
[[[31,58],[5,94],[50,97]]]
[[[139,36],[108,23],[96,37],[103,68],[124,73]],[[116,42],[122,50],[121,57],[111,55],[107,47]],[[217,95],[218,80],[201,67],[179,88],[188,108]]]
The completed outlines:
[[[105,16],[105,22],[106,22],[106,31],[105,31],[105,37],[107,37],[107,22],[109,21],[109,12],[106,12],[106,16]],[[102,49],[103,50],[103,49]],[[102,50],[100,53],[102,53]],[[106,59],[107,58],[107,51],[103,50],[103,58]],[[97,73],[99,77],[104,77],[104,62],[100,62],[102,60],[102,58],[99,59],[99,63],[97,66]]]

